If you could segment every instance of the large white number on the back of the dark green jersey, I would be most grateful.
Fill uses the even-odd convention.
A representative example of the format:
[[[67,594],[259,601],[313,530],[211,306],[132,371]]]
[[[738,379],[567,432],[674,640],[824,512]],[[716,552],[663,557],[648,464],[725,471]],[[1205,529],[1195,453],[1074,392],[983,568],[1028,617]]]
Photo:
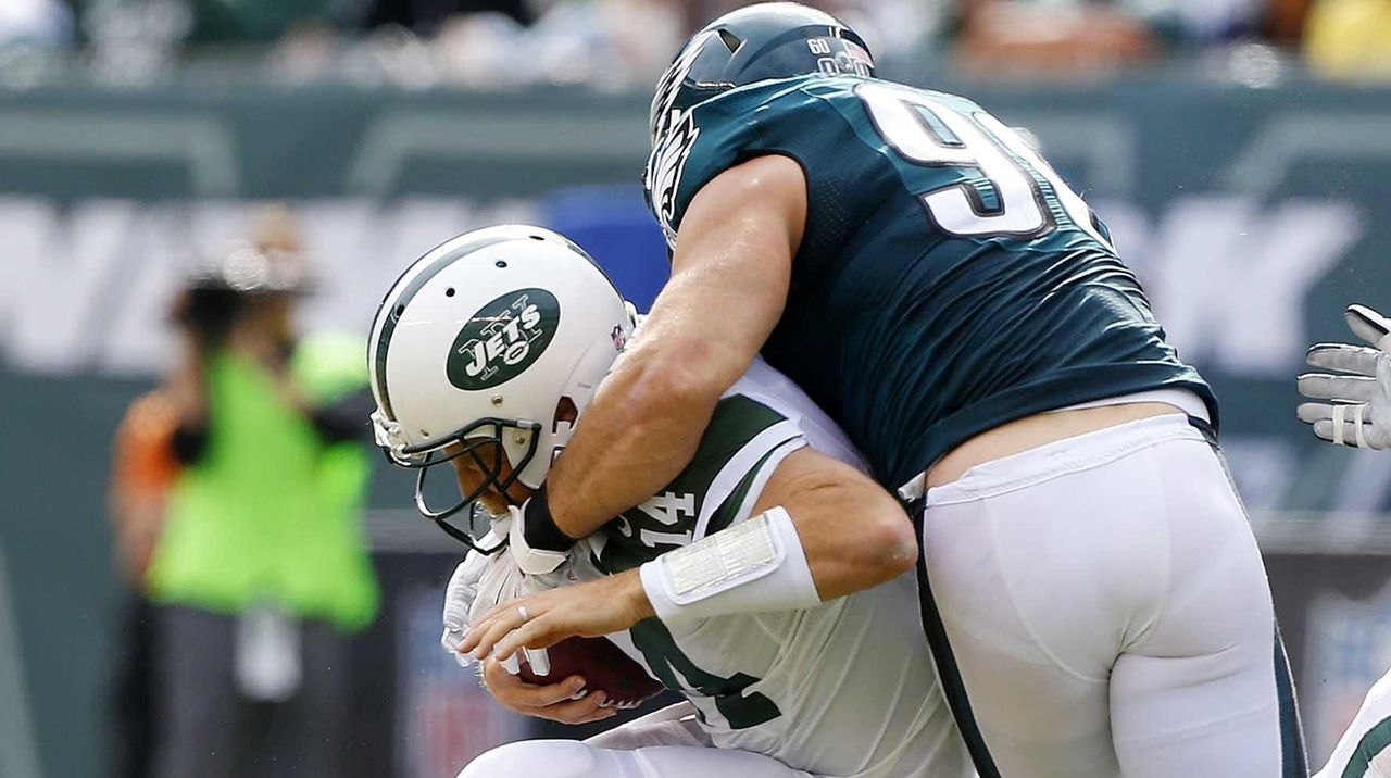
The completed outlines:
[[[918,195],[942,230],[972,238],[1043,235],[1056,227],[1045,199],[1047,188],[1068,220],[1111,248],[1081,195],[1000,120],[981,110],[967,114],[928,93],[886,84],[861,84],[855,93],[875,129],[906,161],[981,173],[976,180]]]

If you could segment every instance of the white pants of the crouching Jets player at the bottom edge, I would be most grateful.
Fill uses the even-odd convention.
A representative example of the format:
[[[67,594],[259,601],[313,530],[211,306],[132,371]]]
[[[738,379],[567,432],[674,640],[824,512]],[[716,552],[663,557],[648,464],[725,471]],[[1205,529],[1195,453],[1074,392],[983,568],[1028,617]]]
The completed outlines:
[[[764,754],[716,749],[679,703],[588,740],[520,740],[469,763],[459,778],[817,778]]]

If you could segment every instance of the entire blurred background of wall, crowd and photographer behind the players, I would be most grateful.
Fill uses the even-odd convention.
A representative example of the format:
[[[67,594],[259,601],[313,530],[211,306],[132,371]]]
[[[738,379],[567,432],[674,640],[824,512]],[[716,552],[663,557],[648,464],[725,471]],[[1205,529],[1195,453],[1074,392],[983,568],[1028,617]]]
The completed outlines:
[[[1317,444],[1294,376],[1391,308],[1391,0],[815,4],[1110,224],[1224,404],[1321,761],[1391,665],[1391,455]],[[460,548],[363,443],[362,340],[501,221],[645,309],[650,89],[733,6],[0,0],[0,775],[203,778],[218,743],[435,778],[555,732],[438,649]]]

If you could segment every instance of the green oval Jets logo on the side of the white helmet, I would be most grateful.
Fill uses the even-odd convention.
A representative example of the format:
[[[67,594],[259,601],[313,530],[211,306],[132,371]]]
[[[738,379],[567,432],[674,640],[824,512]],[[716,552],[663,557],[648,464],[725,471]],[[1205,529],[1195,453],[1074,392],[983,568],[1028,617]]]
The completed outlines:
[[[508,292],[469,317],[445,373],[462,390],[495,387],[527,369],[551,345],[561,303],[545,289]]]

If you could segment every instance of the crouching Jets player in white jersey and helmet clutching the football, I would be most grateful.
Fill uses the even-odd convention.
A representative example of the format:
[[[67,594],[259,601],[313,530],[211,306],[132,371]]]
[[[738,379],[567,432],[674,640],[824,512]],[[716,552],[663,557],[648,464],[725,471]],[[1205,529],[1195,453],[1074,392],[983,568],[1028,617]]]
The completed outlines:
[[[691,463],[658,497],[569,553],[527,543],[510,516],[542,487],[620,359],[630,310],[583,251],[534,227],[438,246],[378,310],[378,443],[420,469],[417,504],[441,526],[474,501],[499,515],[451,582],[447,644],[476,653],[494,694],[523,713],[609,715],[601,689],[573,699],[580,679],[530,686],[502,669],[523,654],[519,640],[569,635],[618,633],[689,700],[591,742],[494,749],[460,777],[970,775],[921,632],[907,515],[862,473],[840,430],[766,365],[723,395]],[[455,465],[463,491],[444,511],[421,489],[441,463]],[[502,536],[505,550],[490,543]],[[485,551],[497,555],[484,561]],[[545,579],[590,565],[608,575],[494,607],[506,593],[490,592],[488,571]],[[537,653],[524,656],[545,675]]]

